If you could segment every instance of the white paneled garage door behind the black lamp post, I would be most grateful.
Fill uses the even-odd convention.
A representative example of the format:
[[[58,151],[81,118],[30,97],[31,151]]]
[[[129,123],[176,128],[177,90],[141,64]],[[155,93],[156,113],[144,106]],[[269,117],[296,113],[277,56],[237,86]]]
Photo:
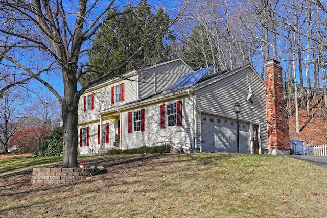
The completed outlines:
[[[237,152],[236,120],[201,114],[202,152]],[[250,153],[248,132],[250,125],[239,122],[241,153]]]

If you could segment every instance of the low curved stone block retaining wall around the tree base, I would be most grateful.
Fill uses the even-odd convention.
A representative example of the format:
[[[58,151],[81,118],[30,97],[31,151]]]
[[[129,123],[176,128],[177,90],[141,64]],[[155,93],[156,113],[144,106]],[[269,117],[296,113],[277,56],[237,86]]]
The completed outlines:
[[[97,168],[33,168],[33,184],[72,182],[86,176],[97,175]]]

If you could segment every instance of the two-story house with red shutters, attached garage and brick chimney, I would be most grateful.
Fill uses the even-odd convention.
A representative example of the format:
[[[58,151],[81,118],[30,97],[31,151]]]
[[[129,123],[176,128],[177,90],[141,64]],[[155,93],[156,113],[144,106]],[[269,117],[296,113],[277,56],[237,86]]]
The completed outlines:
[[[80,100],[78,152],[158,144],[185,152],[236,152],[233,106],[239,102],[240,152],[286,153],[288,123],[283,98],[276,100],[283,96],[279,62],[268,62],[266,75],[267,84],[251,65],[194,72],[176,59],[105,81]]]

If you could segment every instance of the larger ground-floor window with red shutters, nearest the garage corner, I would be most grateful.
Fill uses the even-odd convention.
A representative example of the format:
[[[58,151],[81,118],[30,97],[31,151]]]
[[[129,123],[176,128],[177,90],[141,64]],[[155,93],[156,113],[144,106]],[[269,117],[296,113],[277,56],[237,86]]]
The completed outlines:
[[[182,126],[182,101],[160,105],[160,127]]]

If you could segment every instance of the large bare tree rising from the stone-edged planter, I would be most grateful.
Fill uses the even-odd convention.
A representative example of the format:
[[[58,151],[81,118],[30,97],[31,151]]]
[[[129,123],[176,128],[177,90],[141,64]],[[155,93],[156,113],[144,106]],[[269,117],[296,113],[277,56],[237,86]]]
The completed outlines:
[[[181,12],[186,8],[183,2]],[[130,7],[118,10],[105,18],[113,8]],[[99,77],[90,80],[78,89],[78,82],[86,73],[86,57],[92,39],[102,25],[110,19],[131,13],[137,5],[124,5],[121,1],[0,1],[0,38],[4,39],[0,57],[1,64],[10,67],[12,84],[0,89],[0,93],[28,80],[37,80],[52,92],[61,104],[62,119],[66,133],[63,140],[63,167],[77,167],[77,124],[80,96],[92,84],[113,75],[113,72],[129,63],[147,44],[161,34],[168,33],[169,27],[176,22],[180,13],[171,22],[144,43],[125,60],[110,70],[101,71]],[[122,12],[124,11],[124,12]],[[135,36],[137,37],[137,36]],[[114,43],[114,42],[112,42]],[[94,66],[96,67],[96,66]],[[17,69],[19,68],[19,70]],[[60,74],[63,82],[63,97],[58,89],[41,77],[48,74],[53,78]],[[9,77],[3,75],[3,77]],[[14,81],[15,79],[15,81]]]

